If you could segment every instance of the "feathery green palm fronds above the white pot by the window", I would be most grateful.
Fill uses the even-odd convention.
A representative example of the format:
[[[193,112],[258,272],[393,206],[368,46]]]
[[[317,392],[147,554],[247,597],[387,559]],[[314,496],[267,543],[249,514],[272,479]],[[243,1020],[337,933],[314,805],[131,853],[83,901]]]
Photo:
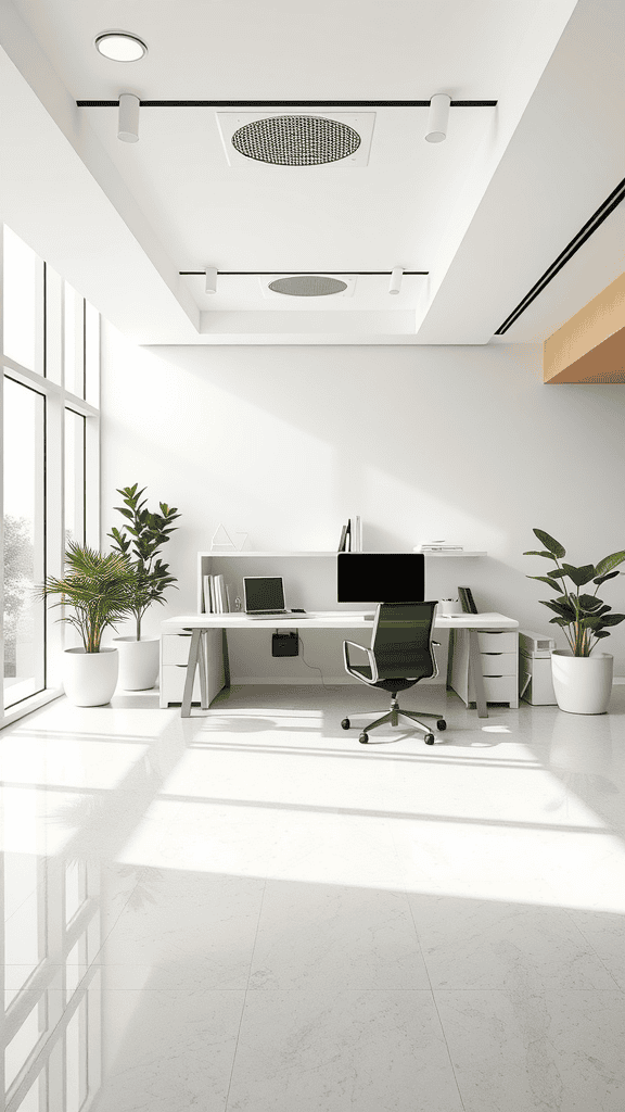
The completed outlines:
[[[88,545],[68,543],[66,574],[62,579],[49,576],[43,595],[60,595],[54,606],[71,606],[59,622],[78,629],[86,653],[99,653],[105,629],[115,628],[132,613],[133,572],[122,553],[102,556]]]

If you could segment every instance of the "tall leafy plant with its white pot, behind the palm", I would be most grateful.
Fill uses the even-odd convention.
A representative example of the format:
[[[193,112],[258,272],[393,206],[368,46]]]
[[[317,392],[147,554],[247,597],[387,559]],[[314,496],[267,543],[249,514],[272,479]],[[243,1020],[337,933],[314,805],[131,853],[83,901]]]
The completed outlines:
[[[118,488],[123,506],[116,509],[126,518],[121,529],[112,527],[108,534],[113,550],[128,557],[133,569],[131,613],[135,616],[135,636],[117,637],[120,652],[119,683],[126,691],[146,691],[153,687],[158,675],[158,637],[142,637],[141,622],[152,603],[165,600],[165,592],[177,580],[169,574],[169,565],[159,558],[162,546],[177,528],[172,523],[180,514],[175,506],[159,504],[160,513],[147,508],[146,487],[138,483]]]

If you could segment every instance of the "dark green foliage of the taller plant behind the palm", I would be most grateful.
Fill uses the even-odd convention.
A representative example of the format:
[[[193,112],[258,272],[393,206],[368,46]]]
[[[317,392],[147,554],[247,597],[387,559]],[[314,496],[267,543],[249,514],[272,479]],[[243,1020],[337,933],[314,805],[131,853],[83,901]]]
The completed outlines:
[[[180,514],[175,506],[159,503],[159,514],[147,508],[143,498],[146,487],[138,489],[139,484],[118,488],[123,499],[123,506],[116,509],[126,518],[121,529],[112,527],[108,534],[116,552],[132,560],[133,584],[131,613],[137,624],[137,641],[141,639],[141,619],[152,603],[163,603],[168,587],[177,582],[169,574],[169,565],[158,558],[162,546],[169,540],[177,528],[172,523]]]

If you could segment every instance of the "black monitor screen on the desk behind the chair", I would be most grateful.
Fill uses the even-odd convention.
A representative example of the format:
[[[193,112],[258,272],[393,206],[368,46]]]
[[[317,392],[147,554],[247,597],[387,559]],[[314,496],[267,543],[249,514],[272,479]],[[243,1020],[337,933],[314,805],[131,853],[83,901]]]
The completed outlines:
[[[339,553],[339,603],[421,603],[425,598],[423,553]]]

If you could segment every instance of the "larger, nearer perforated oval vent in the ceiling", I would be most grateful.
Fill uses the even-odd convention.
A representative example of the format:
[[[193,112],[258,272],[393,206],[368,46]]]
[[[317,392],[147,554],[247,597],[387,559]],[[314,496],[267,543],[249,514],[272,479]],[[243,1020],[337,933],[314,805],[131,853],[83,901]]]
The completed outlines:
[[[319,116],[272,116],[235,131],[232,146],[246,158],[274,166],[319,166],[349,158],[360,136],[347,123]]]

